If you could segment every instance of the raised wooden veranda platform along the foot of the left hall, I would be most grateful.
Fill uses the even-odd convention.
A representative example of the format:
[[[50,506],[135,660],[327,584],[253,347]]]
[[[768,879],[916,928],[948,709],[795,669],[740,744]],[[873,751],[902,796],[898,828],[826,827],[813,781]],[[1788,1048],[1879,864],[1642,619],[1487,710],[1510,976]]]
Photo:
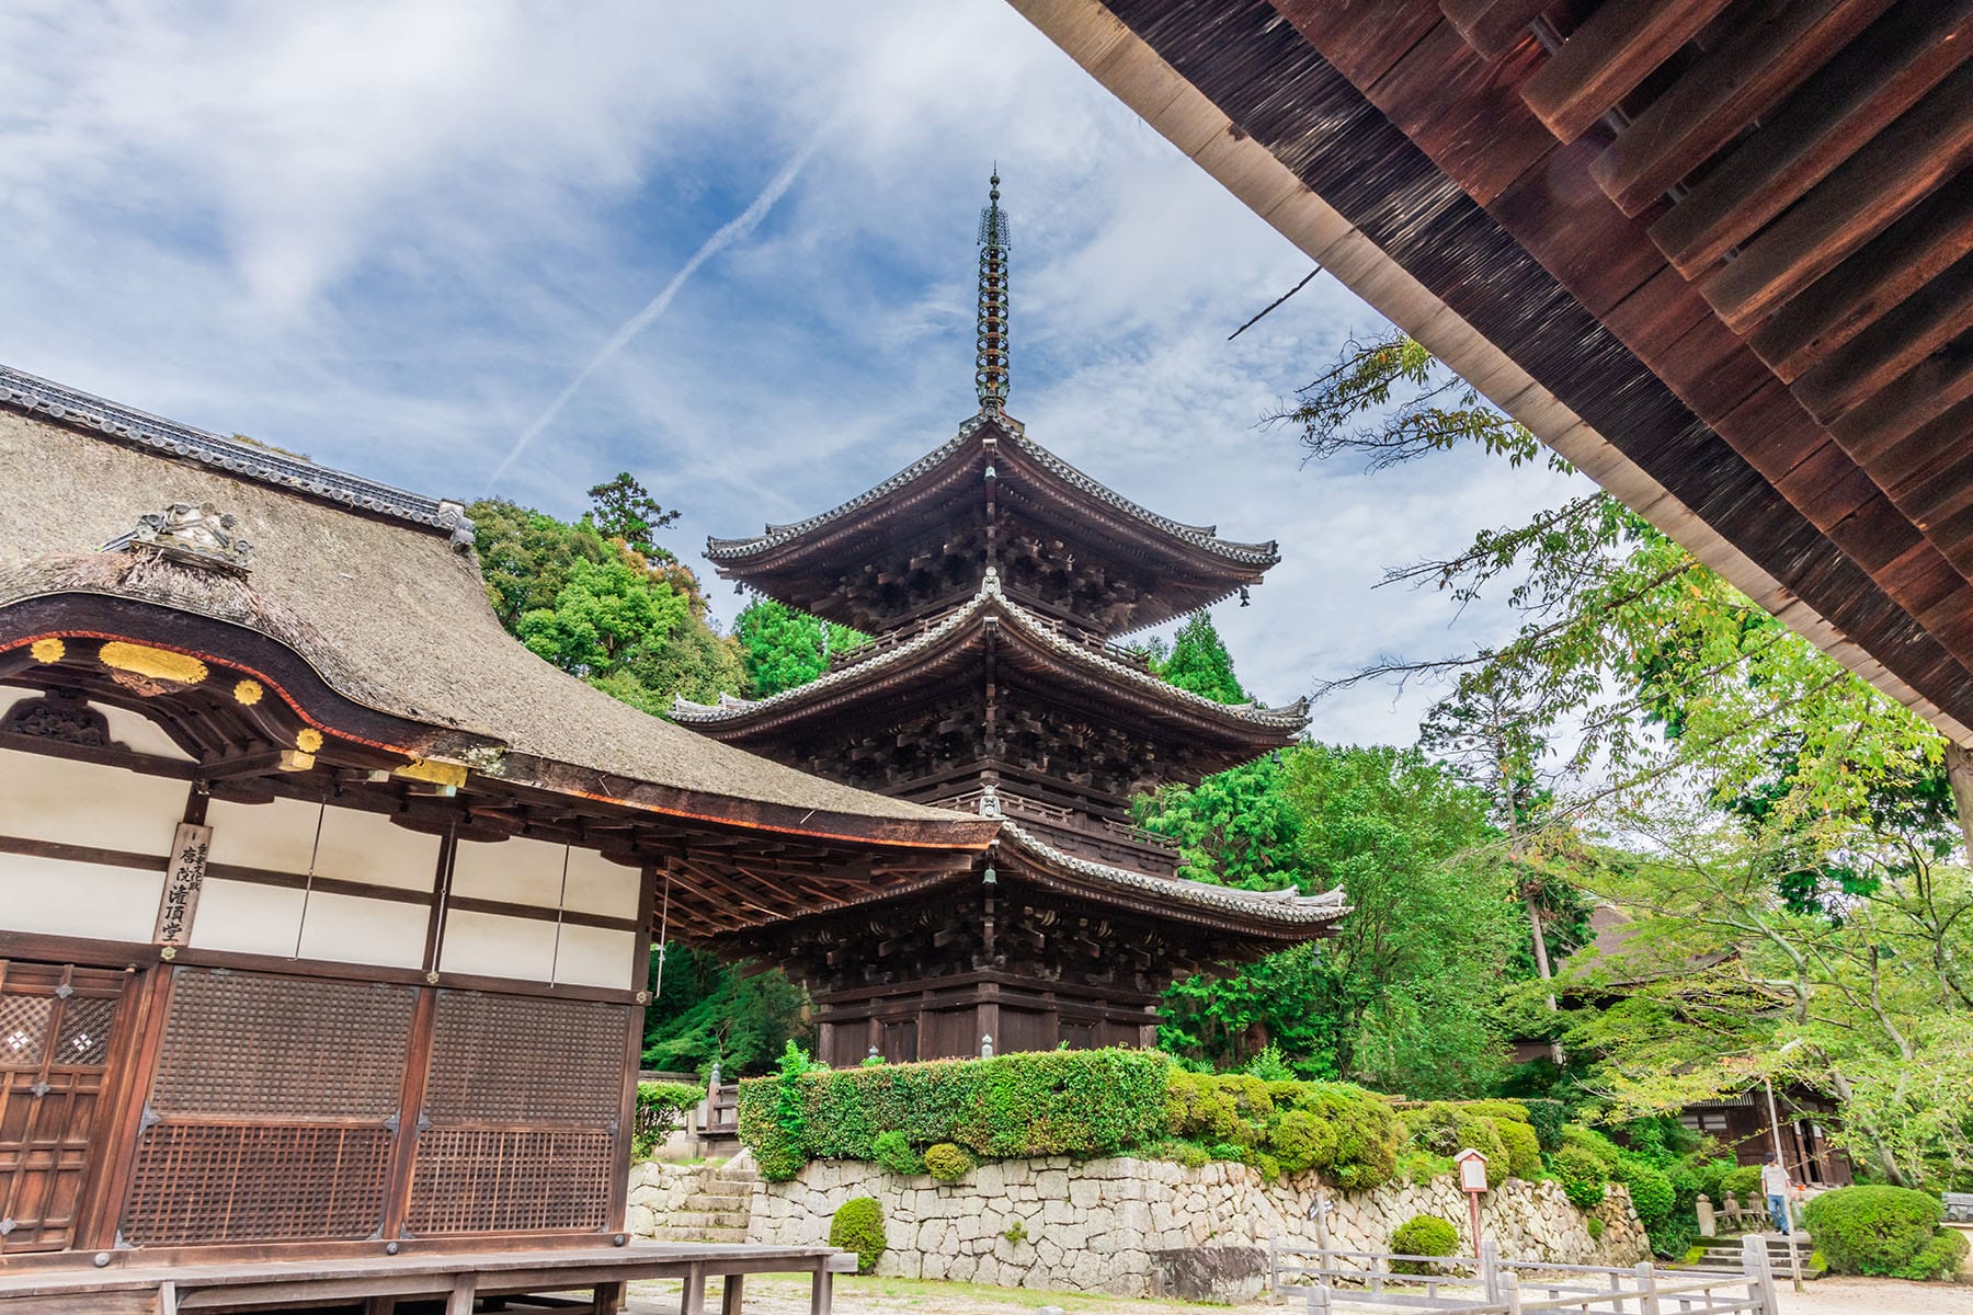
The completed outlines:
[[[81,1260],[81,1258],[79,1258]],[[87,1262],[83,1262],[87,1266]],[[706,1280],[724,1280],[722,1315],[740,1315],[748,1274],[809,1274],[811,1315],[829,1315],[837,1274],[856,1256],[827,1246],[631,1244],[574,1250],[418,1252],[357,1260],[239,1260],[114,1268],[0,1268],[0,1315],[189,1315],[349,1307],[391,1315],[399,1301],[444,1301],[472,1315],[481,1297],[588,1289],[588,1309],[616,1315],[623,1285],[683,1280],[683,1315],[702,1315]]]

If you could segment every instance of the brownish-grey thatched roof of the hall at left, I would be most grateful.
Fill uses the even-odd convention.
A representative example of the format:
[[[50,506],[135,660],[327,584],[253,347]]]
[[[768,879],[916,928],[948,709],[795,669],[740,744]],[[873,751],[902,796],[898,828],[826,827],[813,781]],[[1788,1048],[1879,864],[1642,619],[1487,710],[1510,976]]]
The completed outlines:
[[[189,432],[195,450],[138,442],[77,416],[83,394],[51,384],[43,392],[18,373],[0,382],[0,487],[8,491],[0,499],[0,613],[26,599],[93,593],[247,627],[296,651],[355,704],[483,739],[493,749],[481,755],[489,771],[503,759],[519,769],[539,761],[558,765],[558,779],[574,769],[708,800],[890,820],[919,832],[917,842],[975,848],[990,834],[977,818],[720,745],[543,662],[495,619],[470,536],[454,542],[460,517],[420,515],[440,503],[402,495],[410,501],[369,505],[383,485],[312,463],[302,465],[316,475],[270,477],[266,451],[211,434]],[[49,408],[63,422],[47,418]],[[235,515],[256,546],[251,576],[164,564],[138,570],[130,554],[101,552],[138,517],[172,503],[213,503]]]

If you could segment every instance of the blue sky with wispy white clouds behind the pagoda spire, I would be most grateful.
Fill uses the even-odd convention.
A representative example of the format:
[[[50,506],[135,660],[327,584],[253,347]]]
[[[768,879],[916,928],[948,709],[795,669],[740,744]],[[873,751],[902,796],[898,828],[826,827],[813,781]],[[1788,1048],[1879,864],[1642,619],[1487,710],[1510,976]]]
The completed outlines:
[[[1000,0],[16,0],[0,47],[0,361],[424,493],[572,515],[631,469],[693,564],[860,493],[975,408],[994,162],[1010,414],[1282,542],[1217,613],[1267,700],[1484,641],[1498,611],[1375,582],[1574,487],[1472,453],[1302,467],[1257,420],[1379,317],[1318,276],[1227,343],[1308,260]],[[1409,743],[1425,702],[1357,690],[1314,729]]]

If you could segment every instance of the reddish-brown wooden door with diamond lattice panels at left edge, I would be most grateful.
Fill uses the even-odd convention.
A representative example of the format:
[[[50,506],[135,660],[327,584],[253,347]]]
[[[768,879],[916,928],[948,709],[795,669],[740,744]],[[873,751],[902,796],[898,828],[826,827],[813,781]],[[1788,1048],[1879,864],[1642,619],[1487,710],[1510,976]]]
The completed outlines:
[[[0,960],[0,1256],[75,1236],[126,982]]]

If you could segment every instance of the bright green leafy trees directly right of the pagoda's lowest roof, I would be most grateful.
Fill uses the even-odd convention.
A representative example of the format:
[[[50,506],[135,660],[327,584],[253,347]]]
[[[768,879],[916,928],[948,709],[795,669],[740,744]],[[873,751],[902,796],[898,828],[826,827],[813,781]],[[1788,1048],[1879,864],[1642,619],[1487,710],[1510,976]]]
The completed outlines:
[[[1517,919],[1466,860],[1486,812],[1484,795],[1423,755],[1330,745],[1140,804],[1148,828],[1180,840],[1188,875],[1342,885],[1355,909],[1320,956],[1296,946],[1233,978],[1174,984],[1160,1043],[1231,1067],[1261,1041],[1306,1076],[1417,1096],[1486,1090],[1501,1069],[1492,1009]]]

